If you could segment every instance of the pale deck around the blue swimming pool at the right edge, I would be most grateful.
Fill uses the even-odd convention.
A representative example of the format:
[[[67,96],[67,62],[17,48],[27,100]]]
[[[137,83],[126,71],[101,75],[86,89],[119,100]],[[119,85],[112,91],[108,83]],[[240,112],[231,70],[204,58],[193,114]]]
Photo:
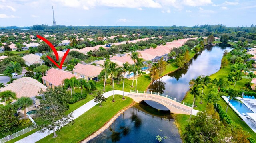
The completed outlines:
[[[225,102],[228,103],[228,97],[226,96],[221,96]],[[254,113],[256,113],[256,108],[252,108],[246,101],[251,101],[252,103],[254,103],[256,105],[256,99],[249,99],[249,98],[240,98],[237,97],[237,99],[241,100],[243,104],[245,104],[250,110],[252,110]],[[240,112],[238,112],[238,110],[236,110],[236,108],[234,108],[234,106],[232,104],[229,104],[229,106],[244,120],[244,122],[256,133],[256,127],[254,127],[254,125],[252,124],[252,122],[250,121],[250,119],[246,118],[247,115],[242,115],[240,114]],[[224,109],[226,111],[226,108]]]

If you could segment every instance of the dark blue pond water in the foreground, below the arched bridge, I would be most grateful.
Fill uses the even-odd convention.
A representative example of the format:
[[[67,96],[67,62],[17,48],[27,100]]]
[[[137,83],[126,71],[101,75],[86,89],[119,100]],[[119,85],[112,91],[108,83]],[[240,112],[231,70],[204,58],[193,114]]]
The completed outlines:
[[[100,133],[90,143],[154,143],[156,136],[167,137],[163,143],[182,143],[174,119],[155,115],[143,108],[149,106],[136,104],[120,115],[109,129]],[[148,110],[147,109],[147,110]]]

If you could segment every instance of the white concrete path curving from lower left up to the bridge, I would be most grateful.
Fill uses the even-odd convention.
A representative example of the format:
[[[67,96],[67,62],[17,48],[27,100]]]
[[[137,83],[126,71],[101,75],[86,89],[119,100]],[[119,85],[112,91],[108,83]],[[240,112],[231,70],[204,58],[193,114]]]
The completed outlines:
[[[115,95],[123,95],[123,91],[121,90],[115,90]],[[124,92],[124,94],[128,94],[128,92]],[[106,93],[103,94],[103,96],[105,98],[108,98],[109,96],[113,95],[113,90],[112,91],[108,91]],[[89,109],[91,109],[93,106],[97,105],[98,103],[94,102],[94,99],[87,102],[86,104],[82,105],[81,107],[79,107],[78,109],[76,109],[73,112],[73,120],[78,118],[79,116],[81,116],[82,114],[84,114],[86,111],[88,111]],[[64,125],[63,125],[64,126]],[[39,141],[40,139],[43,139],[44,137],[48,136],[49,134],[47,133],[48,131],[45,131],[44,133],[33,133],[19,141],[17,141],[16,143],[35,143],[36,141]],[[50,131],[50,133],[53,133],[53,131]]]

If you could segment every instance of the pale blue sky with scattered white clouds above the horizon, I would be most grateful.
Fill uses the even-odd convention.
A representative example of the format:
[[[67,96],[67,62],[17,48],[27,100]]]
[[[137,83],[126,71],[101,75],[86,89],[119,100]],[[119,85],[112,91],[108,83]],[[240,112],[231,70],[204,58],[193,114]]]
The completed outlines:
[[[0,0],[0,26],[256,25],[256,0]]]

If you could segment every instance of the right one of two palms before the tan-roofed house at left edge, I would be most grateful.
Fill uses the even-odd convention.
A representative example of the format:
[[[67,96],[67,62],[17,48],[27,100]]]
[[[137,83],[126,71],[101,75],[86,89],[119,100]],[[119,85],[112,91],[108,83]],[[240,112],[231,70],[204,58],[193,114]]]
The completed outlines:
[[[15,102],[15,105],[24,111],[24,117],[27,118],[26,108],[33,105],[33,100],[29,97],[21,97]]]

